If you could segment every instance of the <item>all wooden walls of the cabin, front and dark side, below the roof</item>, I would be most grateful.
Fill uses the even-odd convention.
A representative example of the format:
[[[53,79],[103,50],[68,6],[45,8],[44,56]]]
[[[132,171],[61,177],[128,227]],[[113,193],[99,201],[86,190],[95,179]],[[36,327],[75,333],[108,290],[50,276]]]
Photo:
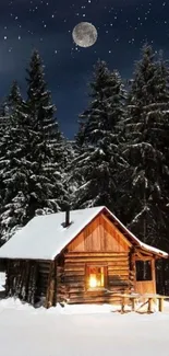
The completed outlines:
[[[99,215],[55,261],[9,261],[7,295],[31,303],[43,297],[47,308],[57,302],[119,303],[118,297],[112,298],[114,294],[155,290],[154,260],[153,282],[136,283],[135,256],[125,237],[107,217]],[[92,265],[105,267],[105,288],[88,289],[87,271]]]

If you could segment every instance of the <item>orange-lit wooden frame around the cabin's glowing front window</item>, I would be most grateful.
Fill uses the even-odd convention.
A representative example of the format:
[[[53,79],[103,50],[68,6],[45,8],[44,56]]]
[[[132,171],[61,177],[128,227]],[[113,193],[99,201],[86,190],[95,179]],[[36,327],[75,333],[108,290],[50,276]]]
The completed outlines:
[[[90,268],[104,268],[104,286],[102,287],[89,287],[88,278],[89,278],[89,269]],[[104,291],[107,289],[107,282],[108,282],[108,265],[105,263],[87,263],[85,266],[85,289],[87,291]]]

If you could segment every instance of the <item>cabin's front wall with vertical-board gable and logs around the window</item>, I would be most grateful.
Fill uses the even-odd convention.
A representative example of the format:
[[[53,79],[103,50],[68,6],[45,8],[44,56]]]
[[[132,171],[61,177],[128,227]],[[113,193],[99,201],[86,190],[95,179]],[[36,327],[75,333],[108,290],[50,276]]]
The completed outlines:
[[[86,269],[92,265],[105,267],[104,289],[88,290]],[[59,301],[110,302],[112,294],[130,292],[134,288],[129,243],[117,227],[100,215],[67,246],[64,263],[57,275]]]

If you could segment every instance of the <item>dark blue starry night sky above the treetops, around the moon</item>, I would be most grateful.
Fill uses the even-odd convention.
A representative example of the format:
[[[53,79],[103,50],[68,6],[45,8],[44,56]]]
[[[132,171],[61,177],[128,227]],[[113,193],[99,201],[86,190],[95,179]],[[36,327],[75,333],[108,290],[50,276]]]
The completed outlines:
[[[98,32],[88,48],[72,39],[82,21]],[[60,128],[73,138],[88,102],[93,65],[100,58],[130,78],[145,42],[169,59],[169,0],[0,0],[0,97],[15,79],[25,95],[25,68],[38,49]]]

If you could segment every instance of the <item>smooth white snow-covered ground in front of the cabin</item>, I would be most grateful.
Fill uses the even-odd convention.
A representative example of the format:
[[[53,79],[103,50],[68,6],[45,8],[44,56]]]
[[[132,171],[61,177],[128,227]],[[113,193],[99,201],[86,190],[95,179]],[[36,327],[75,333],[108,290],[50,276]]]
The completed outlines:
[[[164,313],[120,314],[110,306],[49,310],[0,301],[2,356],[169,355],[169,305]]]

